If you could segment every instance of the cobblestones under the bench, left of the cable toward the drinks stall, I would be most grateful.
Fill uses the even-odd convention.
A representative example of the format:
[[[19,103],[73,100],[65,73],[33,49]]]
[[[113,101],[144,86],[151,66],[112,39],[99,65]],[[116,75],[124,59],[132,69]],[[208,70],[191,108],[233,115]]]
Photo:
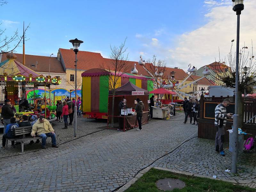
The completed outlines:
[[[69,122],[69,119],[68,119]],[[65,142],[67,140],[71,140],[74,138],[74,126],[68,126],[68,129],[61,129],[64,127],[64,122],[59,123],[56,121],[51,122],[52,127],[55,128],[55,132],[59,135],[59,143]],[[95,120],[95,119],[87,119],[83,117],[77,117],[77,132],[76,136],[84,135],[86,133],[98,131],[100,129],[104,129],[107,127],[107,120]],[[2,137],[3,133],[0,134],[1,146],[2,146]],[[57,139],[57,138],[56,138]],[[34,143],[32,145],[28,145],[29,141],[24,143],[24,153],[29,153],[32,151],[36,151],[41,149],[41,140],[40,143]],[[57,140],[58,144],[58,140]],[[46,140],[46,146],[49,147],[52,145],[51,138]],[[7,150],[3,150],[0,148],[0,158],[6,156],[14,156],[20,155],[21,148],[20,146],[16,146],[16,148],[11,148],[11,142],[8,141]]]

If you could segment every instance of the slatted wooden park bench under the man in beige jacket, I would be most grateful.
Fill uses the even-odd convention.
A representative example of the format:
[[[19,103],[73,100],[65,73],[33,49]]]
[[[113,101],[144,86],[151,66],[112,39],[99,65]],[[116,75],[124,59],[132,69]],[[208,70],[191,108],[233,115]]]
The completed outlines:
[[[7,149],[8,140],[10,140],[10,141],[16,140],[16,142],[20,142],[20,144],[21,144],[21,153],[23,153],[24,152],[24,141],[41,139],[41,137],[36,136],[34,138],[31,135],[25,137],[25,134],[30,134],[31,130],[32,130],[32,126],[15,128],[15,130],[14,130],[15,136],[22,136],[23,138],[14,138],[14,139],[7,139],[6,138],[5,148]],[[54,130],[54,132],[55,132],[55,130]],[[56,137],[57,137],[57,140],[58,140],[59,139],[58,135],[56,135]]]

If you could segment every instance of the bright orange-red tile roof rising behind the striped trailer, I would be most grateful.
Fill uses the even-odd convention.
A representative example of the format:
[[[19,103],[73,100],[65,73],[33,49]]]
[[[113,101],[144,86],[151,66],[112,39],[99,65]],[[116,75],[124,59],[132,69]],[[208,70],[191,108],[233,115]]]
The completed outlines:
[[[75,69],[75,52],[71,49],[60,48],[59,50],[66,68]],[[104,66],[105,68],[108,68],[110,66],[110,69],[114,70],[113,60],[103,58],[100,53],[79,51],[77,53],[77,60],[77,69],[80,70],[100,68],[101,66]],[[134,63],[136,63],[136,68],[139,71],[138,75],[149,76],[147,71],[142,66],[140,66],[137,61],[127,61],[129,70],[124,72],[131,73],[131,69],[134,67]]]

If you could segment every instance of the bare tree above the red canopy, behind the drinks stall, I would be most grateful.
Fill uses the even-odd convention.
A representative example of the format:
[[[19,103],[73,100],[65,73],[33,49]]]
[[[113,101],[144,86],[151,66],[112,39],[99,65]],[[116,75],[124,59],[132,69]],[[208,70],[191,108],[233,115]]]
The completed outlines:
[[[146,68],[150,76],[154,79],[152,89],[158,89],[164,86],[165,80],[169,81],[170,76],[166,74],[166,63],[164,60],[156,60],[156,55],[153,55],[152,60],[148,59],[149,63]]]

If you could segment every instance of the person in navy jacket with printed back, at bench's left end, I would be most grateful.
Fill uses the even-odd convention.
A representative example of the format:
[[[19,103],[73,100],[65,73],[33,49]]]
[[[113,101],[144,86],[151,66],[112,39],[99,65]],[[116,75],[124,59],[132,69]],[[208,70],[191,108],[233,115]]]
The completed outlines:
[[[4,132],[4,135],[3,135],[3,140],[2,140],[2,149],[5,149],[5,144],[6,144],[6,139],[14,139],[16,138],[14,132],[15,132],[15,129],[18,128],[19,125],[16,123],[16,118],[15,117],[11,117],[10,119],[10,124],[8,124],[6,126],[6,130]],[[14,145],[14,141],[12,141],[12,147],[11,148],[15,148],[15,145]]]

